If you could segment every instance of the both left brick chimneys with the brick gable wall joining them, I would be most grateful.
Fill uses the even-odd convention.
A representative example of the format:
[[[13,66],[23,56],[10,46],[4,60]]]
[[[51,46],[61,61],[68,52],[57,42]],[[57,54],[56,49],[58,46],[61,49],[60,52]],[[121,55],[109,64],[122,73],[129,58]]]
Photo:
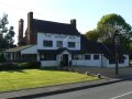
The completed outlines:
[[[20,19],[19,21],[19,36],[18,36],[18,45],[29,45],[36,44],[36,34],[33,29],[33,12],[28,13],[28,29],[25,31],[25,36],[23,36],[23,23],[24,21]]]

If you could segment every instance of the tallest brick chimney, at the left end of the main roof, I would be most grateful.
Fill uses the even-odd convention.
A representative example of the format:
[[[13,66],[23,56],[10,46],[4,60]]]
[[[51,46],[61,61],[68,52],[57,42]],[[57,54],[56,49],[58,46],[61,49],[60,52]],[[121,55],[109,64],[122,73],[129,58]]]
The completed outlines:
[[[28,13],[26,44],[33,44],[33,12]]]

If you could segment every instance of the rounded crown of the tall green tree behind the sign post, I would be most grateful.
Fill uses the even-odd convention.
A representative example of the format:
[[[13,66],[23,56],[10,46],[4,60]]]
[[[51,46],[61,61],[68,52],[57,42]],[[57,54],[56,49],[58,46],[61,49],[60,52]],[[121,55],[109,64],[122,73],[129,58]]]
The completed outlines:
[[[123,38],[130,38],[131,25],[125,22],[125,20],[116,13],[103,15],[97,24],[97,30],[102,33],[101,37],[107,40],[112,40],[116,30],[120,31]]]

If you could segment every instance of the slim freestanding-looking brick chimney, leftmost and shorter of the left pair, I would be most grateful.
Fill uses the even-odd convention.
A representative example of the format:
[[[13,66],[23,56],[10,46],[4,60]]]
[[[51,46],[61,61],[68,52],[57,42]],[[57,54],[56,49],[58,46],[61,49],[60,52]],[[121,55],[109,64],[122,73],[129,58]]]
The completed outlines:
[[[23,19],[19,21],[19,36],[18,36],[18,46],[21,46],[23,43]]]

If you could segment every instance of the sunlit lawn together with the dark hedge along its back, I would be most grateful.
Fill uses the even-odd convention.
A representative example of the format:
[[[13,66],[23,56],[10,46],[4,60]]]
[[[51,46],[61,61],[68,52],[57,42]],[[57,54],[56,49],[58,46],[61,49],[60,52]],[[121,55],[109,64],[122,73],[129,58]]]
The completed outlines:
[[[1,54],[0,92],[98,79],[86,74],[40,68],[41,64],[36,62],[6,62]]]

